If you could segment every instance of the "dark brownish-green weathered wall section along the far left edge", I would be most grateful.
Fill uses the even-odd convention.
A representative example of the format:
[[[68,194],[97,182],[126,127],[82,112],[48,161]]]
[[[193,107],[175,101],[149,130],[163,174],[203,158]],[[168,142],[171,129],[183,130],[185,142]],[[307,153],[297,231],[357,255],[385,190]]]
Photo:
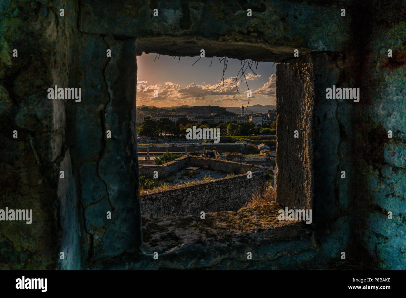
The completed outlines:
[[[69,167],[66,101],[49,100],[47,89],[69,84],[68,49],[78,8],[69,6],[71,13],[60,19],[49,3],[0,2],[0,208],[32,209],[33,217],[29,225],[0,222],[1,269],[56,268],[66,233],[59,228],[67,228],[60,223],[67,215],[60,213],[60,199],[69,195],[59,178],[61,163],[65,175]],[[69,220],[79,225],[77,214]]]

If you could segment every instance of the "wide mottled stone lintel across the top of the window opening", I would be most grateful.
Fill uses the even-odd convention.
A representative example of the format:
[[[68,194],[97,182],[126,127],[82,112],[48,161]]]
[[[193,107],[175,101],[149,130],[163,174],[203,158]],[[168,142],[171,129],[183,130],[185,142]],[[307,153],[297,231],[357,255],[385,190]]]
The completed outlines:
[[[85,32],[137,36],[138,51],[163,51],[172,56],[179,56],[181,51],[183,56],[195,56],[192,53],[204,48],[206,56],[275,62],[291,58],[293,49],[303,54],[340,51],[351,37],[351,16],[340,17],[340,4],[282,0],[187,4],[177,0],[99,5],[92,0],[80,6],[79,26]],[[152,15],[155,8],[159,17]],[[255,17],[247,17],[248,8]],[[166,37],[158,40],[155,35]],[[175,41],[168,36],[180,38]]]

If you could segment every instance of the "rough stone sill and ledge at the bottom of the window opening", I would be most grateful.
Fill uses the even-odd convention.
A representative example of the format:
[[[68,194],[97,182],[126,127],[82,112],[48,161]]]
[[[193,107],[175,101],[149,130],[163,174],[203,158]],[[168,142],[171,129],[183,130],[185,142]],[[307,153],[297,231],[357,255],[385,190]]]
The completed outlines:
[[[277,204],[143,219],[143,255],[93,269],[317,269],[317,245],[303,222],[279,221]],[[158,253],[158,260],[153,253]],[[247,259],[247,253],[252,259]],[[322,260],[322,259],[320,259]]]

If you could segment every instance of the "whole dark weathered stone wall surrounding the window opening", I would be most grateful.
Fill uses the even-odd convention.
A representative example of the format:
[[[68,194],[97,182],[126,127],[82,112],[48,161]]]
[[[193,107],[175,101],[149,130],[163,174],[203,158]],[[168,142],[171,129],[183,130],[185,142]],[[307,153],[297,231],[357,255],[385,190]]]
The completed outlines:
[[[250,7],[255,17],[246,17]],[[340,15],[343,7],[346,17]],[[61,8],[64,17],[58,13]],[[152,17],[154,8],[159,17]],[[297,237],[302,232],[296,229],[299,223],[294,228],[277,226],[277,233],[272,228],[268,234],[255,232],[268,224],[267,213],[255,210],[215,214],[209,231],[193,217],[163,219],[174,225],[171,229],[150,229],[162,227],[160,221],[151,221],[147,242],[168,235],[153,232],[169,230],[191,237],[212,235],[205,238],[210,239],[207,244],[185,240],[154,268],[296,268],[292,264],[312,264],[312,247],[317,247],[322,268],[344,264],[339,253],[347,251],[358,268],[405,269],[405,9],[401,0],[1,1],[0,208],[33,209],[34,217],[31,225],[0,222],[1,268],[151,268],[143,258],[134,263],[124,256],[139,252],[141,244],[138,164],[132,144],[134,53],[195,56],[203,48],[207,57],[294,62],[279,67],[285,68],[279,76],[290,71],[290,79],[299,69],[313,73],[314,79],[305,81],[304,73],[296,75],[302,77],[302,87],[313,82],[310,117],[295,98],[292,104],[283,100],[292,107],[296,103],[293,114],[278,107],[278,121],[296,122],[303,130],[298,143],[292,143],[298,147],[289,148],[281,137],[287,128],[286,137],[293,131],[278,126],[278,142],[287,152],[277,149],[277,163],[283,177],[282,154],[291,158],[299,152],[296,161],[303,162],[305,174],[313,168],[313,186],[303,185],[306,195],[297,193],[295,185],[286,187],[300,197],[285,197],[285,202],[313,206],[314,241],[309,233]],[[106,57],[108,48],[111,58]],[[299,58],[294,58],[294,49]],[[289,78],[281,79],[289,86]],[[300,86],[291,83],[292,88]],[[325,90],[333,84],[359,87],[360,102],[326,100]],[[49,101],[46,90],[54,85],[81,87],[82,102]],[[282,95],[277,91],[278,98]],[[111,130],[111,139],[106,139],[106,130]],[[388,130],[393,138],[387,137]],[[308,155],[306,148],[311,150]],[[61,169],[64,180],[59,178]],[[346,171],[345,179],[341,171]],[[303,175],[294,173],[306,183]],[[283,195],[281,189],[278,194]],[[108,210],[113,216],[106,221]],[[235,215],[240,221],[232,221]],[[247,221],[261,224],[247,227]],[[235,230],[229,233],[226,225],[235,225]],[[289,234],[286,229],[296,231],[292,242],[278,234]],[[264,261],[256,266],[236,261],[238,251],[248,248],[247,237],[261,250]],[[224,243],[232,243],[232,249]],[[186,255],[182,249],[188,255],[184,261],[177,255]],[[66,251],[65,260],[58,261],[60,251]],[[205,264],[197,263],[202,255],[210,256]]]

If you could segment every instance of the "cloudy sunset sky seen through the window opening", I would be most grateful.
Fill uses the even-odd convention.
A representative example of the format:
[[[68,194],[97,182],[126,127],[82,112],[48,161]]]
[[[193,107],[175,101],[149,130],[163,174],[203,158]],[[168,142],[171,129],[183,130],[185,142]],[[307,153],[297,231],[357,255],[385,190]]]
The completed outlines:
[[[197,57],[160,56],[156,54],[137,56],[137,106],[155,105],[169,107],[179,105],[220,105],[223,107],[246,106],[247,86],[244,78],[238,81],[237,92],[234,84],[225,83],[214,90],[220,83],[224,61],[220,64],[217,58],[202,57],[192,66]],[[244,62],[242,62],[244,63]],[[247,65],[247,64],[246,64]],[[252,91],[249,105],[276,105],[275,69],[270,62],[255,62],[251,66],[254,75],[248,68],[246,79]],[[246,66],[244,66],[245,69]],[[241,69],[241,61],[229,59],[224,75],[225,82],[235,81]],[[158,97],[153,97],[153,90],[158,90]]]

